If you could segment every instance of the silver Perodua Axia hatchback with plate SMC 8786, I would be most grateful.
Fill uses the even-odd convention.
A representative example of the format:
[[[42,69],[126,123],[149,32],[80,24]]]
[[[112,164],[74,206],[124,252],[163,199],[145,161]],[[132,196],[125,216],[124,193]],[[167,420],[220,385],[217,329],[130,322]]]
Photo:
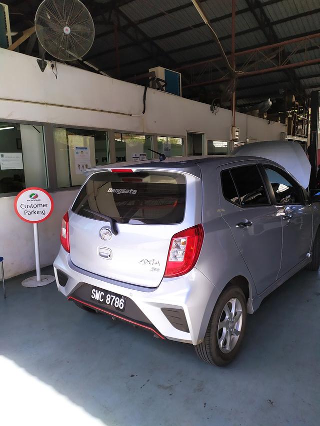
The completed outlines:
[[[246,314],[303,267],[319,267],[319,204],[273,161],[150,160],[87,174],[62,220],[58,290],[190,343],[207,363],[228,364]]]

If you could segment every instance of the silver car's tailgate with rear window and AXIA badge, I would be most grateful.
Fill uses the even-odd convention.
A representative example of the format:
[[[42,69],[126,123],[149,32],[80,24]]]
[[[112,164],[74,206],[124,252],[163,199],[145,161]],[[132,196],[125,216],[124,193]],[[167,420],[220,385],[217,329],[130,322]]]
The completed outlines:
[[[70,260],[106,278],[156,287],[172,235],[201,222],[201,202],[201,180],[191,173],[95,172],[69,211]]]

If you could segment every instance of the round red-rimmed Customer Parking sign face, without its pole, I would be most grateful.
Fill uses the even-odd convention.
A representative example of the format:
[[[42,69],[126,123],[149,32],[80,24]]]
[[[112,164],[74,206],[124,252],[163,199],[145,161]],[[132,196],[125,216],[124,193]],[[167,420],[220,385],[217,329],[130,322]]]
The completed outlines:
[[[24,222],[40,223],[51,216],[53,200],[47,191],[32,186],[15,197],[14,211]]]

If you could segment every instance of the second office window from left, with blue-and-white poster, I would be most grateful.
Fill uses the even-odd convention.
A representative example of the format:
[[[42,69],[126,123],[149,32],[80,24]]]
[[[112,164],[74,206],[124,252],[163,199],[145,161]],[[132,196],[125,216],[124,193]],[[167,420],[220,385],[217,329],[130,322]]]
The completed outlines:
[[[86,169],[110,163],[107,132],[54,127],[53,142],[58,188],[82,185]]]

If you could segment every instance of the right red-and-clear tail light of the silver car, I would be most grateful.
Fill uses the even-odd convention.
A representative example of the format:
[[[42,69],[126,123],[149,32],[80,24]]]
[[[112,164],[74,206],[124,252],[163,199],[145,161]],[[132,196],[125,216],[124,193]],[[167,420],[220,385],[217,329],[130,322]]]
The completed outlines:
[[[164,277],[179,277],[189,272],[198,260],[204,231],[202,225],[192,226],[173,235],[170,242]]]

